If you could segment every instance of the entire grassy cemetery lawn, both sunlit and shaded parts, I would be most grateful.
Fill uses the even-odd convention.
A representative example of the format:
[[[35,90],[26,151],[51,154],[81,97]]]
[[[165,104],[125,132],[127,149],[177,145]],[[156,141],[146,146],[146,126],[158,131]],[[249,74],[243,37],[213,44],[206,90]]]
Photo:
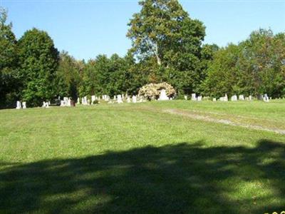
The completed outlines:
[[[281,213],[285,101],[0,111],[0,213]]]

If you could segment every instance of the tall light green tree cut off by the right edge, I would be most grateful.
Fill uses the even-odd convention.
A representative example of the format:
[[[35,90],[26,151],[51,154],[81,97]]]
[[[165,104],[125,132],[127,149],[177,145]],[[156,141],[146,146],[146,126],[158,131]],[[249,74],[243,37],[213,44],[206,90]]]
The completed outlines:
[[[239,67],[247,91],[254,94],[268,93],[272,97],[284,95],[284,35],[274,36],[271,30],[259,29],[240,44],[243,51]]]

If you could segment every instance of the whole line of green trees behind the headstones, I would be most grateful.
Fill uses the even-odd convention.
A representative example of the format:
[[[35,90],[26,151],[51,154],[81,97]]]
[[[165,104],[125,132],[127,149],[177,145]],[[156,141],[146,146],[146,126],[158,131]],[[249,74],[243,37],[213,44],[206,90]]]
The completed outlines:
[[[191,19],[177,0],[140,1],[130,19],[127,37],[132,48],[125,57],[99,55],[78,61],[54,47],[48,33],[31,29],[16,40],[12,24],[0,11],[0,107],[41,106],[58,96],[114,96],[138,93],[147,83],[166,81],[178,98],[285,96],[285,34],[259,29],[237,45],[202,44],[205,27]]]

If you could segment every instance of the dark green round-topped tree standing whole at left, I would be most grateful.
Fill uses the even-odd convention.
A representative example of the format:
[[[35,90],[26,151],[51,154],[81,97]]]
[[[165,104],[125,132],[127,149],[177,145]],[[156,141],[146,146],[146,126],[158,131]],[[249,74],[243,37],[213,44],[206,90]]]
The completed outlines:
[[[19,57],[23,99],[28,106],[40,106],[42,101],[56,96],[54,78],[58,66],[58,50],[45,31],[31,29],[19,39]]]

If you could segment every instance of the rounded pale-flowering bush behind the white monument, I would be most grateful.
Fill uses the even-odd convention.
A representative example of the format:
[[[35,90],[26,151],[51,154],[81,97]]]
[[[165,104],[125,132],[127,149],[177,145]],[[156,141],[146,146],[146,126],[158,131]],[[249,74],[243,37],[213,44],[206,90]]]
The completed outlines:
[[[168,83],[150,83],[140,88],[138,96],[143,96],[148,100],[154,100],[160,97],[160,91],[165,89],[166,95],[169,98],[173,98],[176,95],[175,89]]]

